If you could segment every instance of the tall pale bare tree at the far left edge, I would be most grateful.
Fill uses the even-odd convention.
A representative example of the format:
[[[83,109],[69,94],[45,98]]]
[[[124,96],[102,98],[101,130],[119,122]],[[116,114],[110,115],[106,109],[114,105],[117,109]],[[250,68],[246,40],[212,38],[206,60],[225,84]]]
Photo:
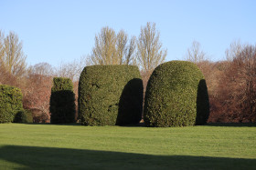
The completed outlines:
[[[10,75],[24,75],[27,69],[22,42],[19,41],[18,35],[10,32],[5,36],[0,55],[0,65]]]

